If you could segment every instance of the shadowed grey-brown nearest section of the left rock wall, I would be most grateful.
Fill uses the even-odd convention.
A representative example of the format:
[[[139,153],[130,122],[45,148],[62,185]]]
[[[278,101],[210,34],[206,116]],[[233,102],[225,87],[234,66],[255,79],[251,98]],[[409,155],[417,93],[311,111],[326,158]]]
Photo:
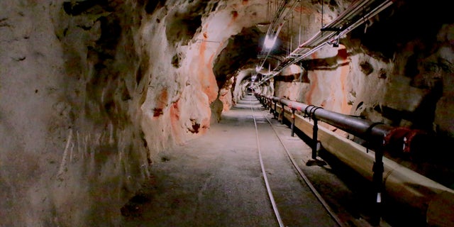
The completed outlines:
[[[149,175],[135,1],[2,1],[0,226],[99,226]]]

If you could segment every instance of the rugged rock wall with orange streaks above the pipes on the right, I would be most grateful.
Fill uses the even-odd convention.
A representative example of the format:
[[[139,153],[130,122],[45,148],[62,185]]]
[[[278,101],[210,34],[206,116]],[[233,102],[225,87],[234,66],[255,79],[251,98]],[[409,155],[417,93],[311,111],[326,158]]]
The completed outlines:
[[[339,48],[304,60],[308,84],[277,77],[277,96],[453,137],[453,19],[446,7],[442,1],[392,5]]]

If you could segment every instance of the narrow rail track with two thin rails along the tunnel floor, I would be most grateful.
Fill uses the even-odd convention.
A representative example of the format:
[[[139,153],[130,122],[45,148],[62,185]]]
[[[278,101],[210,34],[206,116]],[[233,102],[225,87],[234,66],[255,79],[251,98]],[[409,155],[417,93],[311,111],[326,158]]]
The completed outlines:
[[[250,103],[260,167],[278,225],[309,226],[315,222],[316,226],[345,226],[294,160],[270,118],[260,106],[253,105],[257,99],[247,96],[245,100]]]

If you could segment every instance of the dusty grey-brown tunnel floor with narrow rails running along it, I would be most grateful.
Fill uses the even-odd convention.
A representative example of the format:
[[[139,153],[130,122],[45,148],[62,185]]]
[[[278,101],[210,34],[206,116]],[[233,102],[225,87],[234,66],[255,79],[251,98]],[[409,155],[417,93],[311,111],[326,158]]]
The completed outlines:
[[[370,226],[370,208],[363,203],[367,187],[358,179],[335,175],[331,164],[306,165],[311,148],[299,136],[292,137],[289,126],[272,119],[253,96],[223,113],[206,135],[160,153],[149,182],[121,209],[121,226],[279,226],[260,169],[251,106],[285,226],[338,225],[297,177],[267,118],[345,226]],[[345,180],[357,186],[347,187]]]

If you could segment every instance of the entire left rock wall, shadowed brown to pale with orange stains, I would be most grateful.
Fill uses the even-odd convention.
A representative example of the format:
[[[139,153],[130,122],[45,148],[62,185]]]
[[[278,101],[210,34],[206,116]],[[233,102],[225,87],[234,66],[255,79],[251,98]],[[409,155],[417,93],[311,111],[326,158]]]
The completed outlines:
[[[1,1],[0,226],[118,226],[158,153],[205,133],[216,56],[261,1]]]

